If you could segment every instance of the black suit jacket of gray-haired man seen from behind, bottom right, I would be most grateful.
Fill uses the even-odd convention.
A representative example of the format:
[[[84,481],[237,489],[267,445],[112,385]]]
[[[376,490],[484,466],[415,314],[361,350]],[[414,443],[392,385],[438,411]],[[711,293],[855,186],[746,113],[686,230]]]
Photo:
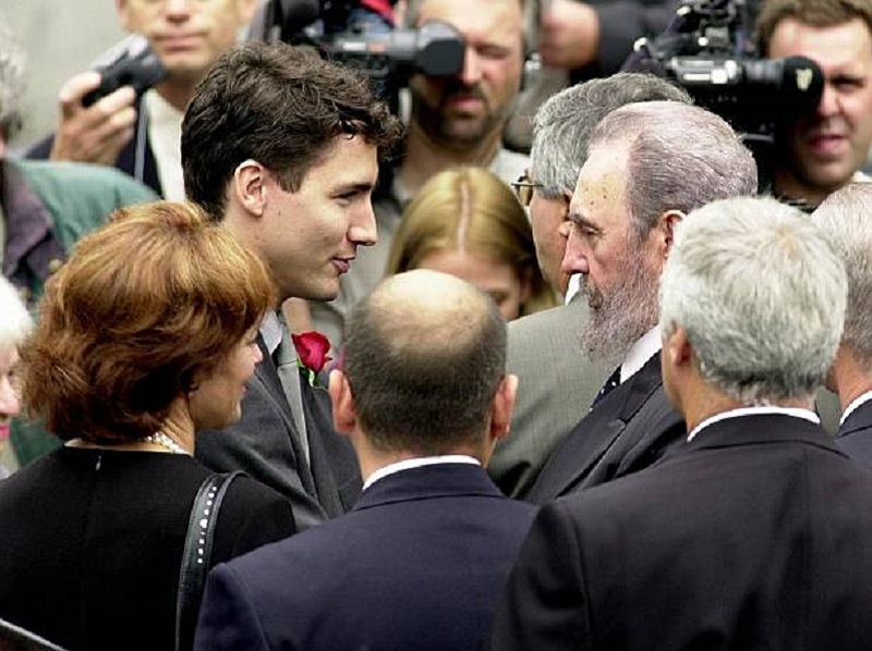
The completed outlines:
[[[493,649],[868,651],[872,472],[819,426],[726,419],[542,508]]]

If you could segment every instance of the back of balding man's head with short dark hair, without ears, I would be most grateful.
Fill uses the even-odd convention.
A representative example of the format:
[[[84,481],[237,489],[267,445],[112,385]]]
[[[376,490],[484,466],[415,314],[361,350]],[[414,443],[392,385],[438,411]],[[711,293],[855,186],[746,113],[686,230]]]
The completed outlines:
[[[445,454],[484,438],[506,372],[506,323],[475,286],[428,270],[390,277],[352,311],[344,341],[375,447]]]

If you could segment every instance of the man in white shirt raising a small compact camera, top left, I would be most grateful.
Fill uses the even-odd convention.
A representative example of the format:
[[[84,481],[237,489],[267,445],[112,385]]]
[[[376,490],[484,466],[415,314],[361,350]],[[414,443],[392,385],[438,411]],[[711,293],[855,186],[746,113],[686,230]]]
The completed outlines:
[[[141,34],[166,69],[166,78],[140,96],[121,85],[96,102],[90,70],[71,77],[59,94],[57,132],[35,145],[28,158],[114,165],[168,199],[183,199],[179,139],[194,85],[237,42],[259,0],[116,0],[119,22]]]

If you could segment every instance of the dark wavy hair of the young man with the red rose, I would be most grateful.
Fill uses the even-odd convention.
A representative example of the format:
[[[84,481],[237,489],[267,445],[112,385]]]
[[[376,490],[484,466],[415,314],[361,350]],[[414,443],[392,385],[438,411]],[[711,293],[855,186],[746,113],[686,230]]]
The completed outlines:
[[[382,158],[402,126],[362,74],[308,48],[246,42],[199,81],[182,123],[185,193],[220,220],[237,167],[252,159],[296,192],[336,136],[361,135]]]

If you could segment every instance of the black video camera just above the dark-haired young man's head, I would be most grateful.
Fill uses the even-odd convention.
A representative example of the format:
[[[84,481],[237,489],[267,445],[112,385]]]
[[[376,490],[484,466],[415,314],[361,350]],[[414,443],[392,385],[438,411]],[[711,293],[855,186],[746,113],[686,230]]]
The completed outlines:
[[[313,46],[327,59],[362,70],[385,99],[413,74],[450,76],[462,70],[465,45],[451,25],[373,29],[360,20],[366,11],[359,0],[269,0],[265,40]]]

